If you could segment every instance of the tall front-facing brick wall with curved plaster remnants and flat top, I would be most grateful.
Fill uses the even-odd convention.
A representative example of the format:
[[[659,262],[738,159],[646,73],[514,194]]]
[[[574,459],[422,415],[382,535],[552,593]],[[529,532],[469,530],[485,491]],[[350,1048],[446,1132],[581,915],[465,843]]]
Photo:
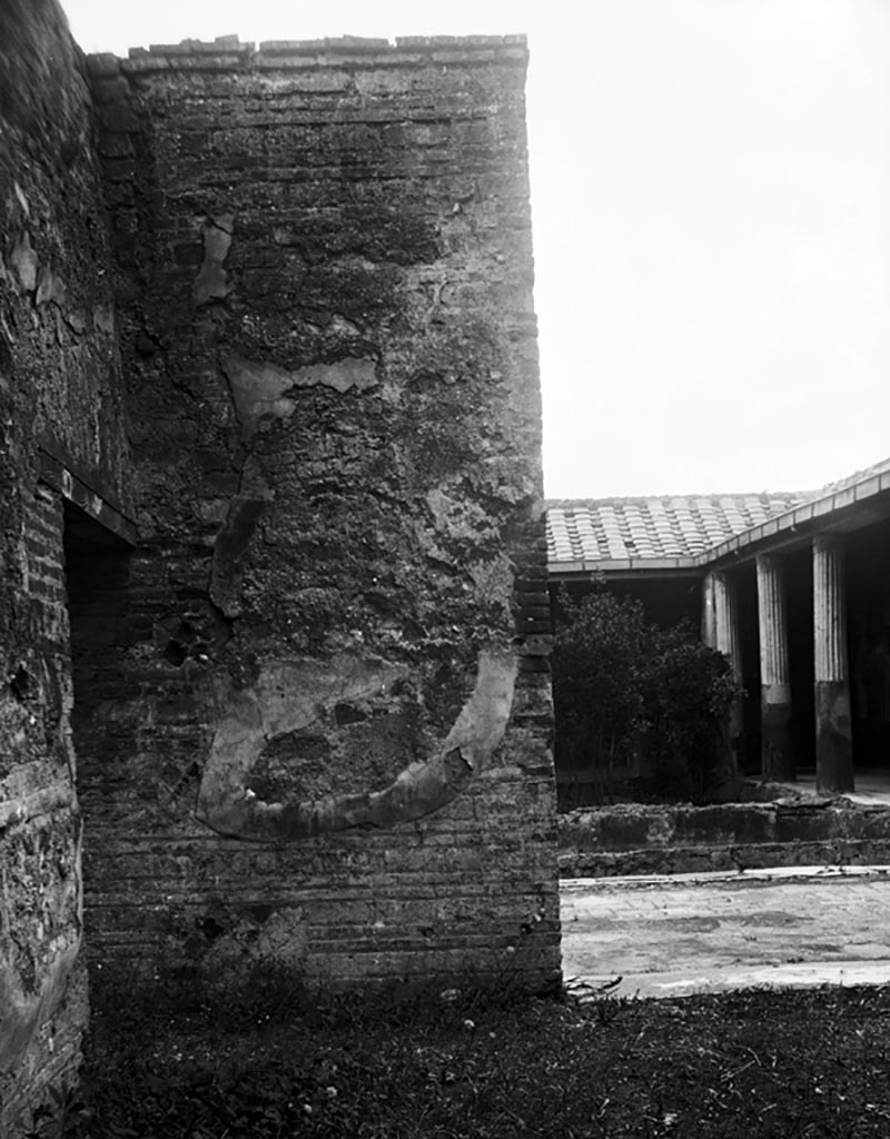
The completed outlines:
[[[103,962],[558,976],[525,62],[90,60],[141,536],[79,699]]]

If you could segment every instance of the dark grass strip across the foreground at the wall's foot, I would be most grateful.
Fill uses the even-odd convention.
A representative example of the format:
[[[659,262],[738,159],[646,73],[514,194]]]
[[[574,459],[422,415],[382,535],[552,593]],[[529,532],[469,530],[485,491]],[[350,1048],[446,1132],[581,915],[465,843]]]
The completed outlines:
[[[65,1139],[890,1133],[890,989],[97,994]]]

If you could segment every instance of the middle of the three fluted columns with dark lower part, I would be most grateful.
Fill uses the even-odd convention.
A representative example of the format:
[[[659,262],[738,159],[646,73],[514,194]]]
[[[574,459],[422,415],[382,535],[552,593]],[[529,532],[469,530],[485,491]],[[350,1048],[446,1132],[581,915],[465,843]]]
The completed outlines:
[[[785,583],[781,562],[766,555],[757,559],[757,612],[762,772],[767,779],[794,779]]]

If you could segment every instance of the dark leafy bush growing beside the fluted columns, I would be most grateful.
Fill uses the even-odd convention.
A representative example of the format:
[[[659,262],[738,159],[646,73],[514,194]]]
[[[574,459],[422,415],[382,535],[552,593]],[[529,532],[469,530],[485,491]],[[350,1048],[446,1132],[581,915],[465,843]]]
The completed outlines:
[[[693,800],[725,773],[729,706],[738,693],[726,658],[684,622],[661,629],[640,603],[605,588],[575,605],[563,598],[553,686],[556,765],[581,798]]]

